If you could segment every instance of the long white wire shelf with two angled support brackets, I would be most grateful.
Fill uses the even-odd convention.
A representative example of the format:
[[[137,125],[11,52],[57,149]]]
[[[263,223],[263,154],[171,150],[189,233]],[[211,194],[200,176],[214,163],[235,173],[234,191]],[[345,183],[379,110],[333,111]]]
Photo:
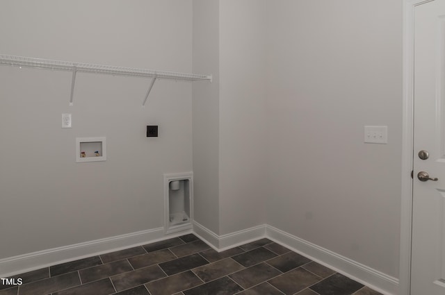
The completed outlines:
[[[72,98],[74,94],[74,83],[76,81],[76,73],[92,73],[92,74],[108,74],[113,76],[135,76],[152,78],[149,85],[143,105],[147,101],[149,92],[152,90],[156,79],[166,79],[174,81],[212,81],[211,75],[175,73],[172,71],[157,71],[152,69],[137,69],[131,67],[115,67],[110,65],[95,65],[82,62],[67,62],[61,60],[46,60],[42,58],[29,58],[24,56],[9,56],[0,54],[0,65],[9,65],[13,67],[33,67],[37,69],[51,69],[56,71],[72,72],[71,98],[70,106],[72,106]]]

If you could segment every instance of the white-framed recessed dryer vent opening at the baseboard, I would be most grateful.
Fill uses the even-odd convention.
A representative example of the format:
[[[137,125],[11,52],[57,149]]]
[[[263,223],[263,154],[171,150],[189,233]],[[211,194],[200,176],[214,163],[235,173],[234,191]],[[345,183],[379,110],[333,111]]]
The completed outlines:
[[[164,175],[165,233],[192,228],[193,174]]]

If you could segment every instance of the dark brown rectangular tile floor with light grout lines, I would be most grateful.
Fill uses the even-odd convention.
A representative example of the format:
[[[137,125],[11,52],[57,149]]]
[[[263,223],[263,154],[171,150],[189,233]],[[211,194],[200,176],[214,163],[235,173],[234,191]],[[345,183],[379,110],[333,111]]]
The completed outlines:
[[[14,278],[0,295],[380,294],[270,239],[218,253],[192,234]]]

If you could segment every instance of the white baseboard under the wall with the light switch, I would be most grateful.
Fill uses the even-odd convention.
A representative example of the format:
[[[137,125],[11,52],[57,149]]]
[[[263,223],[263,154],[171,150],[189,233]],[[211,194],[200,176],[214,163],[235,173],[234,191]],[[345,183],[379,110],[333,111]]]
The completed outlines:
[[[385,295],[398,294],[398,279],[350,260],[273,226],[266,226],[266,237],[296,251],[307,258],[334,269]]]

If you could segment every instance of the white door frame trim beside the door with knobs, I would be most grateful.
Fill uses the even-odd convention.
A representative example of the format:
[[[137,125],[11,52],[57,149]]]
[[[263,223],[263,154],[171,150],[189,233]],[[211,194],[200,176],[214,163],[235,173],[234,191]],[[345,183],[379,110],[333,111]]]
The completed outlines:
[[[401,245],[398,294],[410,295],[412,246],[412,185],[414,162],[414,8],[435,0],[403,0],[403,122]]]

